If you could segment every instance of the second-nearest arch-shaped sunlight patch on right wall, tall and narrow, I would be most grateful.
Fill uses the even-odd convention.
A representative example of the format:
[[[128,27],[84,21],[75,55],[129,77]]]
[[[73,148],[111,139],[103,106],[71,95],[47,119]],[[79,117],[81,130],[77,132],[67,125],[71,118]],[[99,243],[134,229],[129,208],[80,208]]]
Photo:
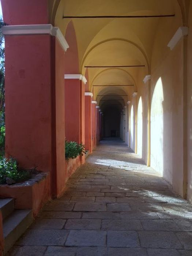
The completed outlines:
[[[139,98],[138,104],[138,116],[137,116],[137,153],[142,157],[142,146],[143,146],[143,105],[142,97]]]

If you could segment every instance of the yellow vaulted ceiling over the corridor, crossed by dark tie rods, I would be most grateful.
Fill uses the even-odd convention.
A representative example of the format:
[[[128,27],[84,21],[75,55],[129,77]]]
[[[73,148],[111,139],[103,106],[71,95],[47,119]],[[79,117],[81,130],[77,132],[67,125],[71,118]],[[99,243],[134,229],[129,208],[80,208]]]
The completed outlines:
[[[50,0],[49,6],[51,20],[64,35],[71,19],[63,19],[63,16],[166,15],[175,14],[179,8],[177,0]],[[103,89],[106,93],[123,90],[127,95],[137,90],[138,72],[141,69],[146,75],[150,72],[159,19],[72,19],[78,44],[79,73],[85,74],[86,65],[145,65],[136,68],[88,68],[91,91],[97,84],[134,84],[134,87],[94,87],[94,97]],[[173,22],[174,18],[163,19]]]

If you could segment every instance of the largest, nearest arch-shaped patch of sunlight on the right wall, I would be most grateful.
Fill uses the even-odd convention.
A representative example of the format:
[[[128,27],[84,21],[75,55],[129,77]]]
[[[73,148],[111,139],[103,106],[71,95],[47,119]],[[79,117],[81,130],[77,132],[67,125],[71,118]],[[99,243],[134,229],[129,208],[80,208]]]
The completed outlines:
[[[151,102],[151,167],[163,175],[163,86],[158,79]]]

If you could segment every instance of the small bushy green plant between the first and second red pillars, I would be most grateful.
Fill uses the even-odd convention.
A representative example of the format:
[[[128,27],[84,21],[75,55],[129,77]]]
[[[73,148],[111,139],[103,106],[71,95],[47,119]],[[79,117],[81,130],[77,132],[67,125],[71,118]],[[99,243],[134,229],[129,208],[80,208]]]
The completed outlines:
[[[85,153],[85,146],[83,143],[65,140],[65,159],[76,158],[78,155]]]

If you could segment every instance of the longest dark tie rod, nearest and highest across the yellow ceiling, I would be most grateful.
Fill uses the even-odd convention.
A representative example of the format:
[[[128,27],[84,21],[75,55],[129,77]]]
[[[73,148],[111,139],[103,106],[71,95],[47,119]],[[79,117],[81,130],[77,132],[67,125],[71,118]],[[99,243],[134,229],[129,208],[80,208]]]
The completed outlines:
[[[163,18],[174,17],[175,14],[165,15],[98,15],[98,16],[63,16],[63,19],[122,19],[122,18]]]

